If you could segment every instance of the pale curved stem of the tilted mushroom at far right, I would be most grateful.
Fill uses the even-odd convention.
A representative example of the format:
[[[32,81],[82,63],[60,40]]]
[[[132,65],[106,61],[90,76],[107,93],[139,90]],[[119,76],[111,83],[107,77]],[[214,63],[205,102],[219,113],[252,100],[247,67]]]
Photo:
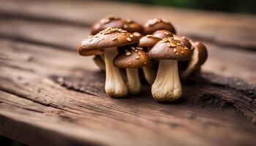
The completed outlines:
[[[200,66],[198,64],[198,51],[197,51],[197,49],[195,49],[193,51],[192,58],[189,61],[189,64],[187,66],[187,69],[184,70],[183,72],[181,72],[181,78],[186,79],[187,77],[189,77],[190,74],[192,74],[192,72],[195,71],[195,69],[197,69],[199,67]]]

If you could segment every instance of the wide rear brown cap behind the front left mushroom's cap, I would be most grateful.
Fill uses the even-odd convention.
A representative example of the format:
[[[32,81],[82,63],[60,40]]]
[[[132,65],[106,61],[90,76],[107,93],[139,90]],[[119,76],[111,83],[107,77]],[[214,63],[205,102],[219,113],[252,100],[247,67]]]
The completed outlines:
[[[143,32],[143,26],[141,26],[139,23],[135,23],[132,20],[124,20],[115,16],[108,16],[99,20],[99,22],[94,23],[93,26],[91,26],[91,34],[97,34],[99,31],[102,31],[105,28],[109,27],[121,28],[130,33],[133,33],[135,31],[140,33]]]

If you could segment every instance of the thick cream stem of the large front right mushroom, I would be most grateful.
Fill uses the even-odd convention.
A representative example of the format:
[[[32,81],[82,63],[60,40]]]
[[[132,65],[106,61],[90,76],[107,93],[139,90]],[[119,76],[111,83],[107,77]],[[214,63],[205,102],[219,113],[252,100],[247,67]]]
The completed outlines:
[[[159,60],[157,77],[151,88],[154,99],[176,101],[182,95],[178,64],[173,60]]]

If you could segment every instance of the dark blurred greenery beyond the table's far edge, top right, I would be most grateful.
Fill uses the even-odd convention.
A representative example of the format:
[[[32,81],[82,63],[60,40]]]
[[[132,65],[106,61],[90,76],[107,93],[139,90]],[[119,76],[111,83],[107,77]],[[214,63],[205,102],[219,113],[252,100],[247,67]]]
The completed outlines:
[[[141,4],[155,4],[171,7],[206,9],[224,12],[256,13],[255,0],[119,0]]]

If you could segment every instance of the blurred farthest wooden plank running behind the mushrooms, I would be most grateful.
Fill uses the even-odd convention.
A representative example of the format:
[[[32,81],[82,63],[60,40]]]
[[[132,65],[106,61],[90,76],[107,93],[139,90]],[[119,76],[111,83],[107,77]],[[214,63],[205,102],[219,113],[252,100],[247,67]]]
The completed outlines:
[[[60,9],[56,11],[56,7]],[[116,1],[1,1],[0,8],[1,16],[77,24],[75,26],[89,26],[108,14],[132,18],[140,23],[145,23],[149,18],[167,18],[176,26],[179,34],[226,47],[256,48],[256,28],[253,25],[256,24],[255,15],[153,7]]]

